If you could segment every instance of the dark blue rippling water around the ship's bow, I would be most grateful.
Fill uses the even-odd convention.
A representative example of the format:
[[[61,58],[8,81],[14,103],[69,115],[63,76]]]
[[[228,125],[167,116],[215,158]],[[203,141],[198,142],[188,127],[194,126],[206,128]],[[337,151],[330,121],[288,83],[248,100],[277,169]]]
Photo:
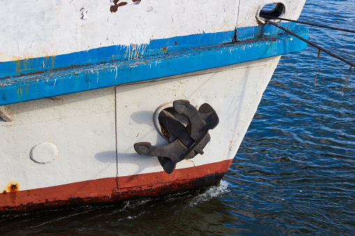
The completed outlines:
[[[301,19],[355,30],[355,1],[308,0]],[[329,22],[329,23],[326,23]],[[355,35],[310,28],[310,40],[355,61]],[[317,49],[282,57],[217,187],[0,217],[8,235],[355,235],[355,78]]]

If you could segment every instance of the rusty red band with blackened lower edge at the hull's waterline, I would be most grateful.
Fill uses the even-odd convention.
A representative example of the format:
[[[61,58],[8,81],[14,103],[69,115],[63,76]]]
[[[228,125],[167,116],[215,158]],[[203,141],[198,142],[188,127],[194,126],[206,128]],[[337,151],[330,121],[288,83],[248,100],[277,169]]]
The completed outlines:
[[[128,199],[153,198],[197,187],[211,186],[220,182],[231,163],[232,160],[226,160],[215,164],[196,166],[194,173],[190,168],[185,168],[178,169],[170,175],[162,171],[160,173],[89,180],[42,189],[6,191],[6,193],[0,194],[0,214],[117,203]],[[204,172],[208,174],[202,175]],[[18,185],[16,186],[18,187]],[[10,185],[11,187],[15,189],[15,184]],[[84,196],[85,194],[89,196]],[[80,195],[83,197],[79,197]]]

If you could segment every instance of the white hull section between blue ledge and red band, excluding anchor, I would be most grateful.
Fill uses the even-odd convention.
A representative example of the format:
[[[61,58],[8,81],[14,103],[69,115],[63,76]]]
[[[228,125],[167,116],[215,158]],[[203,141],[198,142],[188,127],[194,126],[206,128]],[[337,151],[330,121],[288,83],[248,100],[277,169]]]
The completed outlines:
[[[8,105],[13,121],[0,122],[6,137],[0,142],[0,187],[17,182],[20,190],[38,189],[163,171],[156,157],[138,155],[133,144],[166,145],[153,113],[179,99],[196,107],[209,102],[220,123],[210,131],[204,155],[176,169],[233,159],[279,58]],[[58,153],[38,154],[33,162],[30,152],[40,143],[48,150],[54,144]]]

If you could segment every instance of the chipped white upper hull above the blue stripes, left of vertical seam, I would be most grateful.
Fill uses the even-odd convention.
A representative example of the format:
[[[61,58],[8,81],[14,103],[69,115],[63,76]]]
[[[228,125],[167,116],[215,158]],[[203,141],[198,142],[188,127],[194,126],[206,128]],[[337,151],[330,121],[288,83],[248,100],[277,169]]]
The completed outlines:
[[[111,45],[235,28],[237,1],[1,0],[0,61],[68,54]]]

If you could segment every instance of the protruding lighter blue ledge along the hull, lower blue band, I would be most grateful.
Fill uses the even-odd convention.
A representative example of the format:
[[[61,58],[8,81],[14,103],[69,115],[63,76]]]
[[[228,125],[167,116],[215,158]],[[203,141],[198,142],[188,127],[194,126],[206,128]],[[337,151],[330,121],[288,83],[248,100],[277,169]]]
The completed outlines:
[[[255,28],[257,30],[257,27]],[[303,38],[308,36],[308,29],[305,27],[297,26],[294,32]],[[227,35],[227,32],[225,33]],[[225,35],[222,38],[225,38]],[[175,52],[134,60],[1,79],[0,105],[218,68],[289,52],[299,52],[306,46],[305,42],[297,38],[279,34],[244,42],[228,44],[218,42],[218,45],[174,50]],[[161,45],[154,47],[158,48]]]

